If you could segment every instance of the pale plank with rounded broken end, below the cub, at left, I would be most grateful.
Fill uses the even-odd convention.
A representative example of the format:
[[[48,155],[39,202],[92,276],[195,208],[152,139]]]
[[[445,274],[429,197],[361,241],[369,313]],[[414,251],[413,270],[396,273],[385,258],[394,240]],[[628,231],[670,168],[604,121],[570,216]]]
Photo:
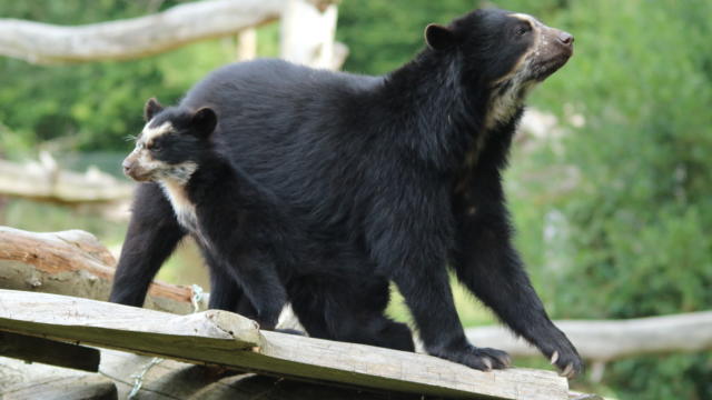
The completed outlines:
[[[0,330],[174,356],[185,351],[187,354],[205,352],[209,357],[214,352],[246,349],[259,343],[257,323],[229,312],[211,310],[175,316],[102,301],[16,290],[0,290]]]

